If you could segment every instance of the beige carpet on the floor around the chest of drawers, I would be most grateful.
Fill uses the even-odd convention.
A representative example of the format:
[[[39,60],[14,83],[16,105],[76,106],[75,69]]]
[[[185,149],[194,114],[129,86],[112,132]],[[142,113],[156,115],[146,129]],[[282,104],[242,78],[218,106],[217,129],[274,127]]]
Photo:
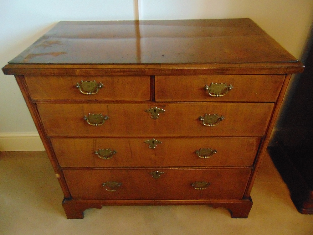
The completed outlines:
[[[104,206],[83,220],[67,220],[45,152],[0,152],[0,234],[18,235],[312,235],[313,215],[302,215],[266,155],[251,197],[248,219],[232,219],[209,206]]]

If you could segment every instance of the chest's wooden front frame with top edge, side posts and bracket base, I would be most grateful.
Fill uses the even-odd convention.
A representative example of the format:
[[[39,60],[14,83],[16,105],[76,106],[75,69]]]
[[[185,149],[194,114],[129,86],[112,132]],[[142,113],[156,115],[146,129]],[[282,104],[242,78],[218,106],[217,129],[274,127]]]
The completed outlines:
[[[248,20],[251,21],[251,20]],[[252,21],[251,21],[252,22]],[[255,23],[251,23],[250,25]],[[256,24],[255,24],[256,26]],[[251,28],[251,27],[250,27]],[[265,35],[265,39],[268,40],[274,47],[279,46],[278,43],[271,39],[263,30],[258,29],[259,33]],[[263,32],[263,33],[262,33]],[[273,47],[273,48],[274,48]],[[139,46],[140,49],[140,46]],[[49,54],[49,53],[48,53]],[[61,54],[66,54],[61,52]],[[138,55],[137,51],[137,58]],[[153,61],[161,60],[145,60],[152,61],[151,64],[102,64],[101,60],[99,64],[97,63],[83,63],[75,64],[75,60],[65,60],[65,64],[60,64],[62,60],[57,60],[58,62],[53,63],[53,60],[33,60],[39,63],[23,63],[24,60],[13,60],[11,63],[7,64],[2,68],[3,73],[6,75],[15,75],[18,85],[23,93],[24,99],[28,105],[31,115],[34,119],[35,125],[38,129],[39,135],[44,143],[45,149],[48,152],[48,156],[53,165],[54,171],[60,182],[62,190],[64,192],[64,201],[62,203],[66,216],[69,219],[78,219],[84,217],[84,211],[88,208],[101,208],[105,205],[209,205],[213,208],[224,207],[231,212],[233,218],[247,218],[252,207],[252,200],[250,197],[250,191],[254,179],[256,177],[257,171],[259,169],[260,162],[266,151],[266,146],[269,142],[270,133],[274,127],[277,114],[279,112],[280,105],[283,101],[283,94],[287,88],[288,82],[290,80],[292,73],[302,72],[304,66],[293,56],[287,55],[285,50],[282,53],[282,57],[273,56],[271,60],[267,60],[266,57],[259,57],[258,60],[230,60],[230,63],[223,63],[223,61],[228,60],[209,60],[218,61],[217,63],[208,62],[203,63],[206,60],[197,60],[199,63],[192,63],[186,60],[186,63],[155,63]],[[38,54],[41,55],[41,54]],[[42,55],[45,55],[42,54]],[[222,54],[224,55],[224,54]],[[286,56],[287,55],[287,56]],[[248,58],[248,57],[247,57]],[[265,58],[265,59],[264,59]],[[26,59],[26,58],[25,58]],[[265,61],[264,61],[265,60]],[[25,60],[29,61],[29,60]],[[79,60],[78,60],[79,61]],[[81,60],[82,61],[82,60]],[[125,61],[125,60],[120,60]],[[132,60],[127,60],[132,61]],[[170,61],[170,60],[169,60]],[[181,60],[175,60],[181,61]],[[182,60],[184,61],[184,60]],[[241,61],[240,63],[236,61]],[[270,61],[270,62],[266,62]],[[111,61],[110,61],[111,62]],[[57,64],[59,63],[59,64]],[[154,97],[154,76],[168,75],[168,76],[182,76],[182,75],[262,75],[262,74],[275,74],[275,75],[286,75],[284,84],[280,91],[280,96],[275,101],[274,110],[271,113],[270,124],[267,125],[264,138],[259,146],[258,154],[254,161],[254,170],[249,177],[249,182],[245,188],[245,192],[242,199],[223,199],[223,200],[74,200],[71,198],[69,189],[65,183],[64,176],[62,175],[62,170],[58,164],[58,160],[55,157],[54,150],[52,148],[49,137],[46,135],[41,123],[39,113],[37,110],[37,102],[47,102],[47,101],[35,101],[31,100],[27,84],[24,80],[24,76],[150,76],[151,79],[151,101],[155,102]],[[266,89],[266,88],[265,88]],[[51,102],[51,101],[48,101]],[[56,102],[56,101],[52,101]],[[67,101],[57,101],[57,102],[67,102]],[[80,102],[80,101],[75,101]],[[124,102],[125,103],[125,102]],[[73,169],[73,168],[71,168]],[[208,169],[208,168],[206,168]]]

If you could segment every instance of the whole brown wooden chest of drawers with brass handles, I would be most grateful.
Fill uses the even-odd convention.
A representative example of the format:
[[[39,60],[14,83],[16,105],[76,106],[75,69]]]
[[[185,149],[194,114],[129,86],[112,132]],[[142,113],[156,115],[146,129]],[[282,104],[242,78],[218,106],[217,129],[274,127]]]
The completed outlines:
[[[250,19],[60,22],[15,75],[68,218],[103,205],[226,207],[245,218],[292,73]]]

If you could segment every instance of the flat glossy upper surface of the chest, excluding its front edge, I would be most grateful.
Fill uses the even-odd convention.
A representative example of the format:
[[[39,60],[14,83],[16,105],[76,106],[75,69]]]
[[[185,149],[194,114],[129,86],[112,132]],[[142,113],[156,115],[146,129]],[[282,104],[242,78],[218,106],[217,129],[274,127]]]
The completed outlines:
[[[9,63],[297,62],[252,20],[61,21]]]

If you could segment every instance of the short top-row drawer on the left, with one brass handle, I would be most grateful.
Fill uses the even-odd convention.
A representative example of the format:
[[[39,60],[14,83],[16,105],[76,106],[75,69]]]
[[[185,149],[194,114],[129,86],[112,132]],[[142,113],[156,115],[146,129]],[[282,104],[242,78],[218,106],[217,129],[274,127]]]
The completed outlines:
[[[150,76],[25,76],[25,81],[33,100],[147,101],[151,97]],[[81,84],[81,81],[96,81],[103,86],[97,88],[93,83]],[[77,83],[80,88],[76,87]],[[97,93],[82,93],[91,91]]]

